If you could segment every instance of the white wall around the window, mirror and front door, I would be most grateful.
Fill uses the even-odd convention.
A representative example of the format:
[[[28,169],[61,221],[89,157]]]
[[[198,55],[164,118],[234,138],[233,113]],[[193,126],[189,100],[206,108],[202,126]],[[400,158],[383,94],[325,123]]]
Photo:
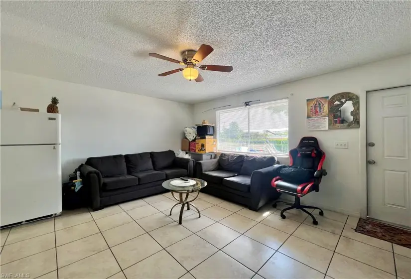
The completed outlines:
[[[365,102],[365,91],[407,84],[411,84],[411,55],[196,104],[194,121],[199,123],[207,119],[210,123],[215,123],[215,110],[203,113],[215,107],[232,105],[233,108],[240,106],[244,101],[289,98],[289,147],[295,147],[303,136],[314,136],[327,154],[324,167],[328,175],[322,180],[320,192],[307,195],[303,202],[359,215],[365,199],[362,192],[365,187],[362,175],[365,173],[360,173],[360,131],[365,129],[365,121],[361,121],[360,129],[308,131],[305,118],[306,99],[331,97],[336,93],[348,91],[359,95],[361,104]],[[365,118],[365,110],[360,112],[360,117]],[[347,140],[349,148],[335,149],[334,140]],[[361,149],[363,148],[364,146]],[[288,163],[288,159],[280,158],[280,161]]]

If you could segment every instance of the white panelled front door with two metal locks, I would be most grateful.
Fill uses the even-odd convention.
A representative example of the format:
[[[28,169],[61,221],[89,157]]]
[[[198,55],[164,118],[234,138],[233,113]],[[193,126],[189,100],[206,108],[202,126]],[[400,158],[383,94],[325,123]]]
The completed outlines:
[[[411,86],[368,92],[369,217],[411,227],[410,156]]]

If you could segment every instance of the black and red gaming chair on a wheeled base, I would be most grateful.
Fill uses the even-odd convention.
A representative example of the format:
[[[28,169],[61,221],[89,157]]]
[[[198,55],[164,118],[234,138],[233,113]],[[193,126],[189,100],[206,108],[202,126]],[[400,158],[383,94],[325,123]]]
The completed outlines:
[[[293,208],[300,209],[307,213],[312,218],[312,223],[318,225],[315,217],[304,208],[319,209],[319,215],[324,215],[321,208],[315,206],[301,205],[300,197],[309,192],[319,190],[319,184],[322,176],[327,175],[325,169],[322,169],[322,164],[325,160],[325,153],[320,149],[318,140],[314,137],[304,137],[298,143],[296,148],[289,151],[290,164],[276,165],[274,167],[276,177],[271,181],[271,185],[278,191],[284,194],[293,195],[295,197],[294,203],[284,201],[276,201],[277,203],[284,203],[290,207],[281,210],[281,218],[285,219],[284,212]]]

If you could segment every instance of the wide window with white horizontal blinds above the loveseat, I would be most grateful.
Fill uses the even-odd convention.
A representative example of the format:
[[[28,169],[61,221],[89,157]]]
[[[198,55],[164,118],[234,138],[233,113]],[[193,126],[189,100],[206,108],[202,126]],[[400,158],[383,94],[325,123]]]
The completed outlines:
[[[217,111],[219,152],[288,153],[288,99]]]

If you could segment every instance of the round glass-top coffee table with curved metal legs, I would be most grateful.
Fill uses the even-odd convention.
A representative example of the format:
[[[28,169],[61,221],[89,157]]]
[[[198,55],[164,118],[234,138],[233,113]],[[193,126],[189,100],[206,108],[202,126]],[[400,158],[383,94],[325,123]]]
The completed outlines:
[[[192,204],[191,202],[198,197],[198,194],[200,193],[199,191],[201,190],[201,188],[204,188],[205,186],[207,186],[207,182],[204,181],[204,180],[202,180],[202,179],[199,179],[199,178],[191,178],[191,177],[184,177],[184,178],[191,180],[191,181],[192,181],[191,183],[194,183],[194,182],[195,182],[195,184],[193,184],[193,185],[188,185],[188,186],[176,186],[176,185],[173,185],[173,184],[171,183],[171,181],[174,181],[174,180],[181,180],[180,178],[170,179],[170,180],[164,181],[164,182],[162,183],[162,186],[163,186],[164,188],[170,190],[170,191],[171,191],[171,195],[173,196],[173,198],[174,198],[176,201],[178,201],[178,202],[177,202],[176,204],[174,204],[173,207],[170,209],[170,215],[171,215],[171,212],[173,211],[173,208],[176,207],[177,205],[181,204],[180,218],[178,219],[178,224],[180,224],[180,225],[181,225],[181,219],[183,218],[183,211],[184,211],[185,205],[187,205],[187,210],[190,210],[190,205],[191,205],[192,207],[194,207],[194,208],[197,210],[197,212],[198,212],[198,217],[199,217],[199,218],[201,217],[200,210],[198,210],[198,208],[195,207],[195,205]],[[177,181],[176,181],[176,182],[177,182]],[[174,182],[174,183],[175,183],[175,182]],[[188,200],[189,194],[191,194],[191,193],[196,193],[196,192],[197,192],[197,195],[196,195],[193,199]],[[174,195],[174,194],[176,194],[176,193],[178,194],[178,198],[176,198],[175,195]],[[184,194],[185,194],[185,197],[183,197]],[[191,198],[191,197],[190,197],[190,198]]]

